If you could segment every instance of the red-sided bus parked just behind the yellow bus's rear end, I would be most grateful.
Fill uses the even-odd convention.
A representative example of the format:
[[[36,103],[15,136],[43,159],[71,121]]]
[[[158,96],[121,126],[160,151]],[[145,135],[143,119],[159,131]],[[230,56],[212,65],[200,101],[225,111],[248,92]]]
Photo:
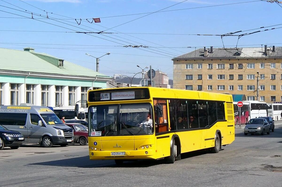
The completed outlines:
[[[249,103],[243,102],[243,106],[240,109],[237,106],[237,103],[238,102],[233,102],[235,125],[248,123],[249,117],[250,117],[250,115],[249,115],[250,114]],[[241,117],[240,117],[239,111],[241,111]]]

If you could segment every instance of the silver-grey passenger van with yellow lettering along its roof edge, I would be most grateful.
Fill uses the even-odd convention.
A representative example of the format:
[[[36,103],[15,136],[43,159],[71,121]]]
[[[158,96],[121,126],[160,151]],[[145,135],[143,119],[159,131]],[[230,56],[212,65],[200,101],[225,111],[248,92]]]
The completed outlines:
[[[45,106],[0,106],[0,124],[20,132],[25,142],[39,143],[43,147],[74,141],[73,130]]]

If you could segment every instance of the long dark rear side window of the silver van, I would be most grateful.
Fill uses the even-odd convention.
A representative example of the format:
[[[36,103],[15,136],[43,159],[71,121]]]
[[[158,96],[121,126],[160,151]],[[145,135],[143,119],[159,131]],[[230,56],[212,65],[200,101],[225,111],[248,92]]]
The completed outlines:
[[[27,113],[0,113],[1,125],[25,126]]]

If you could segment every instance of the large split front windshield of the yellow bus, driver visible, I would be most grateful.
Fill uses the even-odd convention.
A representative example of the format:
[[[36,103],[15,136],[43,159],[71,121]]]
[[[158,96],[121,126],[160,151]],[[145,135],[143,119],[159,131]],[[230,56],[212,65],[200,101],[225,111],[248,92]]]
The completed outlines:
[[[151,105],[121,104],[98,105],[89,110],[89,132],[98,131],[102,136],[144,135],[154,132]]]

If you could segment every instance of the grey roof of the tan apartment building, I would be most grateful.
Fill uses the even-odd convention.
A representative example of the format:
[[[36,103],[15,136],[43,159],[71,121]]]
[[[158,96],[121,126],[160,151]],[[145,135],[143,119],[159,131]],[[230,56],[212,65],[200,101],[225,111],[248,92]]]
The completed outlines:
[[[183,54],[172,60],[191,60],[191,59],[242,59],[242,58],[282,58],[282,47],[275,47],[275,51],[272,51],[272,47],[267,47],[270,49],[270,54],[265,53],[265,47],[241,47],[241,48],[213,48],[213,53],[208,51],[208,55],[204,56],[204,48],[197,49],[190,53]]]

